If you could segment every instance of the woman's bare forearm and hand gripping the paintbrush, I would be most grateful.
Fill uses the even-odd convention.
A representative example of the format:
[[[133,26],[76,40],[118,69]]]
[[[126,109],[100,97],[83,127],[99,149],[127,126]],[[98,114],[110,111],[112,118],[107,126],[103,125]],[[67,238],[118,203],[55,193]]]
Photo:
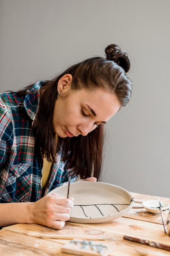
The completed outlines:
[[[17,223],[36,223],[61,229],[70,218],[73,200],[53,193],[36,202],[0,204],[0,227]]]

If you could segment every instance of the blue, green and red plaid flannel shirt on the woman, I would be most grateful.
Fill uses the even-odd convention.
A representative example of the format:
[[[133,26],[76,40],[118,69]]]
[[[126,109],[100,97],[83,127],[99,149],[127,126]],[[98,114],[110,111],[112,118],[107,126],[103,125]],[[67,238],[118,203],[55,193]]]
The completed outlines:
[[[35,202],[42,196],[41,152],[35,151],[32,123],[39,106],[39,90],[33,85],[25,97],[16,92],[0,94],[0,203]],[[45,124],[44,124],[45,125]],[[68,161],[57,153],[44,195],[68,181]],[[71,175],[71,182],[76,180]]]

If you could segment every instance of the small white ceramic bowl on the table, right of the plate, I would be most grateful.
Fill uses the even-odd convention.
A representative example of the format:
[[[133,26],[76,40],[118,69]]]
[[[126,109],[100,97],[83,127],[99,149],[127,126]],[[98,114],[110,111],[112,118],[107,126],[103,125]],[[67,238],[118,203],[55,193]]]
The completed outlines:
[[[169,204],[167,204],[166,202],[163,201],[159,201],[159,200],[148,200],[148,201],[144,201],[142,203],[142,206],[149,211],[150,213],[155,213],[155,214],[159,214],[161,213],[161,210],[159,208],[159,202],[161,202],[162,205],[162,211],[166,211],[166,209],[169,208]]]

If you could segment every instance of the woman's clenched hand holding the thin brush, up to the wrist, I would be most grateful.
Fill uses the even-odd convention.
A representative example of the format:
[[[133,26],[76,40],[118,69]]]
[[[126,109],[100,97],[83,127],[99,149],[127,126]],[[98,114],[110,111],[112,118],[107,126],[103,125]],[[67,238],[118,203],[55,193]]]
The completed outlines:
[[[32,223],[62,229],[70,218],[74,198],[64,198],[55,193],[46,195],[30,205]]]

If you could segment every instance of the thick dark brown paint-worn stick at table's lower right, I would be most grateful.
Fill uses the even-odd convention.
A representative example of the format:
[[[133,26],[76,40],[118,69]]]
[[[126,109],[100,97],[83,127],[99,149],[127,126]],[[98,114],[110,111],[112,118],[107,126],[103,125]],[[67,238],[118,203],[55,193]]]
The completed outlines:
[[[139,239],[139,238],[135,238],[135,237],[131,237],[131,236],[124,236],[123,238],[124,238],[124,240],[128,240],[128,241],[131,241],[131,242],[136,242],[136,243],[143,244],[143,245],[149,245],[151,247],[163,249],[163,250],[166,250],[166,251],[170,252],[170,246],[169,245],[163,245],[163,244],[160,244],[160,243],[156,243],[156,242],[152,242],[152,241],[144,240],[144,239]]]

